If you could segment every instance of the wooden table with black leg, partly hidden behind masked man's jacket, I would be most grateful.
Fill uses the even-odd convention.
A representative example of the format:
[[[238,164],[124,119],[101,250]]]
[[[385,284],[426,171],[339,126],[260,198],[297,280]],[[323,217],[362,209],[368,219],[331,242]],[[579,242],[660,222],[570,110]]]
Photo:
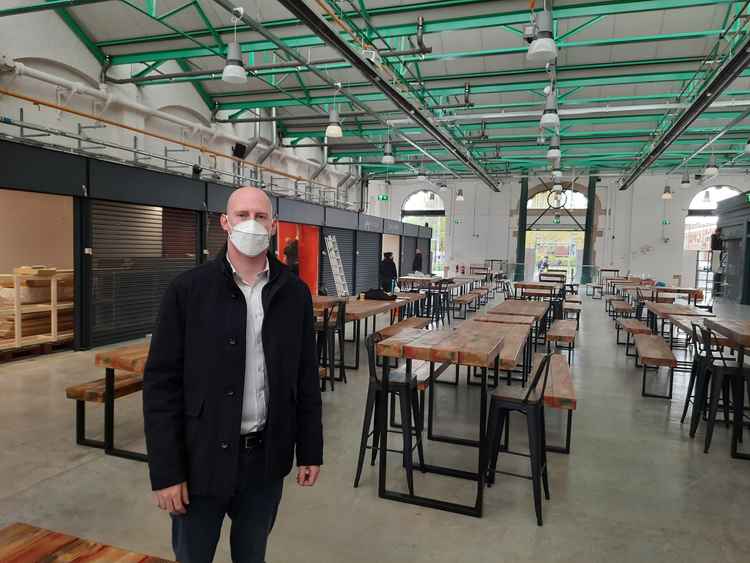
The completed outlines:
[[[115,370],[132,373],[142,379],[149,348],[150,344],[144,342],[120,346],[96,354],[94,364],[104,368],[104,453],[107,455],[135,461],[148,461],[146,454],[115,447]],[[81,422],[85,424],[83,421]]]

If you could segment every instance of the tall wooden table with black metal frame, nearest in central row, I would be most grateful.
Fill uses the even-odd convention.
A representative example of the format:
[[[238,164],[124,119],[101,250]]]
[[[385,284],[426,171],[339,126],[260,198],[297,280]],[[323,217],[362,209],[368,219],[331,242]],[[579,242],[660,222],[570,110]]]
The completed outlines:
[[[438,500],[424,496],[405,494],[391,491],[386,488],[387,479],[387,452],[388,452],[388,413],[382,413],[379,417],[380,432],[380,466],[378,480],[378,495],[381,498],[396,500],[428,508],[447,510],[458,514],[470,516],[482,516],[484,499],[484,470],[485,453],[481,447],[485,442],[487,430],[487,370],[499,363],[498,357],[503,347],[504,328],[518,327],[520,325],[501,325],[494,323],[475,323],[467,321],[461,323],[454,329],[443,329],[435,331],[410,330],[404,331],[397,336],[385,339],[378,343],[376,353],[380,356],[391,358],[405,358],[407,373],[411,371],[412,360],[425,360],[430,363],[429,387],[429,412],[428,438],[442,442],[459,444],[461,446],[473,446],[479,448],[477,470],[466,471],[450,467],[425,464],[423,470],[429,473],[446,475],[475,481],[476,499],[473,505],[464,505],[453,502]],[[523,327],[521,327],[523,328]],[[442,364],[435,370],[435,363]],[[383,394],[388,396],[389,364],[383,362]],[[434,384],[435,378],[440,375],[451,364],[466,365],[480,369],[481,376],[481,398],[479,408],[479,439],[468,440],[449,436],[430,437],[430,421],[435,408]],[[382,408],[387,409],[387,401],[383,401]],[[403,424],[403,421],[402,421]]]

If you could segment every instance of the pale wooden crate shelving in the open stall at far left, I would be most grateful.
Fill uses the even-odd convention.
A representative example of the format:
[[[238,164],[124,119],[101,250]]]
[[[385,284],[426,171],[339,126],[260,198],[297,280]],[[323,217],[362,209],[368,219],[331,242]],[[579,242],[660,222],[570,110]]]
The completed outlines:
[[[72,338],[72,270],[20,266],[0,274],[0,351]]]

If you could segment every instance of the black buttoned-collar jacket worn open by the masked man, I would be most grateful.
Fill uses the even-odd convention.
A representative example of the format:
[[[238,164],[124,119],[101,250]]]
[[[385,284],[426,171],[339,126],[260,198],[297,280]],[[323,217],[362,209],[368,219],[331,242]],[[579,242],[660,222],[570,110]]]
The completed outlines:
[[[268,381],[266,476],[322,465],[320,379],[310,291],[268,253],[263,350]],[[143,412],[154,490],[188,482],[190,494],[230,496],[236,486],[245,381],[247,306],[226,260],[178,276],[151,342]]]

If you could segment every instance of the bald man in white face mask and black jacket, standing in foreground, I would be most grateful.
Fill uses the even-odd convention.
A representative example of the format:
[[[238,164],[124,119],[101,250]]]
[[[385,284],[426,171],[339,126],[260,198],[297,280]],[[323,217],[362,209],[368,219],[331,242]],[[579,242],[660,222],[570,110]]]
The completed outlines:
[[[149,472],[179,561],[211,561],[229,515],[232,560],[262,563],[295,446],[299,485],[323,462],[312,299],[268,250],[264,192],[233,192],[221,225],[225,250],[162,301],[144,373]]]

